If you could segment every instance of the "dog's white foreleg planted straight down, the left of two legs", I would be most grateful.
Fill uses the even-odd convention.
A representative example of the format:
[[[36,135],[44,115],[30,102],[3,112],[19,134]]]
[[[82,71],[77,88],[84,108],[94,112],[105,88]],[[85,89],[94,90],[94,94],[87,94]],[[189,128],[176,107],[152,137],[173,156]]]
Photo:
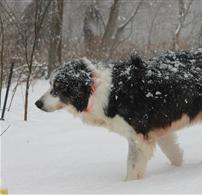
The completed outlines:
[[[154,143],[128,140],[128,162],[126,180],[141,179],[154,150]]]

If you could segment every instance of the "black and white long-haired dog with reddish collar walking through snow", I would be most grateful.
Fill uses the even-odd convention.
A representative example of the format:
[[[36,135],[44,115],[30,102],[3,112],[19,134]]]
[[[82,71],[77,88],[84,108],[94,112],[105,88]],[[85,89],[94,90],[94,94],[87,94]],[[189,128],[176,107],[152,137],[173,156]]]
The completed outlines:
[[[56,69],[50,85],[36,106],[67,108],[126,137],[127,179],[140,179],[156,143],[172,164],[182,164],[176,130],[202,121],[202,48],[107,66],[75,60]]]

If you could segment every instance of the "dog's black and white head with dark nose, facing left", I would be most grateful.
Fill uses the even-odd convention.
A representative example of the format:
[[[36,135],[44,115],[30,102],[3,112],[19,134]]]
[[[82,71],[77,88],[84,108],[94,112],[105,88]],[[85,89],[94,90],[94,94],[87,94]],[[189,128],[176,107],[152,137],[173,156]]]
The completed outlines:
[[[52,112],[73,106],[78,112],[84,111],[92,93],[93,73],[87,59],[74,60],[53,71],[50,89],[36,101],[43,111]]]

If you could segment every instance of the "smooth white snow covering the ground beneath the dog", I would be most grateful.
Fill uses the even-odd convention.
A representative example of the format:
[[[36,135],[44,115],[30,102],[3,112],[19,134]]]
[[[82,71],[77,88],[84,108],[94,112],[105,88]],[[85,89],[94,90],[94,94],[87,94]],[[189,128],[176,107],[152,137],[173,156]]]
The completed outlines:
[[[171,166],[157,148],[145,178],[125,182],[125,139],[65,111],[40,111],[34,102],[47,88],[46,81],[31,88],[28,122],[18,88],[0,122],[1,132],[10,125],[1,137],[1,179],[10,193],[202,193],[202,125],[179,132],[182,167]]]

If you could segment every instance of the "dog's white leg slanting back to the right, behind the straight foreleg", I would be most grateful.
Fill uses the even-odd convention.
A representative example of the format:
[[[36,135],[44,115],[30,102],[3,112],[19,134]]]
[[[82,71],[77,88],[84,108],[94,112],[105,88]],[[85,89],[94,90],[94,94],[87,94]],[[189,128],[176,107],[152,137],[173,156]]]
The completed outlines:
[[[163,136],[158,140],[158,145],[173,165],[182,165],[183,150],[177,143],[176,133],[170,133],[169,135]]]

